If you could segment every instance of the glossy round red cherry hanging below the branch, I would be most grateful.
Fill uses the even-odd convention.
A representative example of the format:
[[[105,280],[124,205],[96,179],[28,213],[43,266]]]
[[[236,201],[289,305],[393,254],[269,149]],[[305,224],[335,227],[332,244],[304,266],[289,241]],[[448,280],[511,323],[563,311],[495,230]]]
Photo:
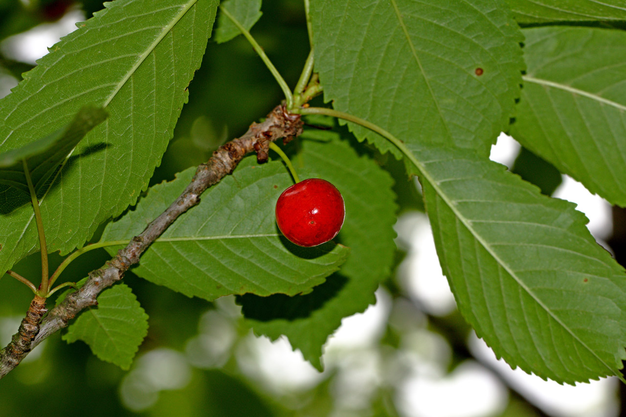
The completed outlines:
[[[344,199],[326,180],[310,178],[287,188],[276,202],[280,232],[296,245],[311,247],[339,233],[346,217]]]

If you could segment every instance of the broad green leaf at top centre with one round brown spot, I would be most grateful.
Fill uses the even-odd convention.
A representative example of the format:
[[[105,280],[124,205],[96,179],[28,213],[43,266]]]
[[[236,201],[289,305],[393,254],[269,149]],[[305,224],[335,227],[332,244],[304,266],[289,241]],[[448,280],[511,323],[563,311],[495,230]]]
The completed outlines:
[[[315,70],[336,110],[414,142],[488,155],[508,125],[523,70],[523,37],[506,6],[311,0],[310,14]],[[349,126],[359,140],[399,155],[381,136]]]

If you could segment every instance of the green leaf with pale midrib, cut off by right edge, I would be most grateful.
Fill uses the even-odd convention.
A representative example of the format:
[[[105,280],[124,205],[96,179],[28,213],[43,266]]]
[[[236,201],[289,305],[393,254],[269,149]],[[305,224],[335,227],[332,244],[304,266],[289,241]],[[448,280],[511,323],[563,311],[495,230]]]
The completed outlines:
[[[528,73],[511,135],[591,192],[626,206],[626,33],[524,33]]]

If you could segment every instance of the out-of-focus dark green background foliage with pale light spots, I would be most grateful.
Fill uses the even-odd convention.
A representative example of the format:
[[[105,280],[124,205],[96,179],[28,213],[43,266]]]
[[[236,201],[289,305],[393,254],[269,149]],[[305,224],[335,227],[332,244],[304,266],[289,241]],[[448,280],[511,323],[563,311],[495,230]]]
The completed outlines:
[[[99,0],[0,0],[0,38],[54,24],[76,11],[89,18],[101,8]],[[295,85],[309,52],[302,1],[265,1],[263,12],[252,34],[287,83]],[[11,44],[8,39],[0,45],[0,91],[4,94],[33,65],[16,59]],[[220,45],[209,41],[202,68],[189,91],[189,103],[151,184],[171,180],[175,173],[205,162],[218,145],[244,133],[282,98],[279,86],[241,36]],[[533,399],[476,354],[472,342],[468,344],[473,340],[471,329],[453,301],[434,301],[435,305],[429,306],[411,295],[403,276],[415,250],[412,234],[424,227],[428,232],[421,196],[401,163],[386,155],[376,158],[396,180],[400,216],[396,274],[377,292],[376,309],[357,315],[360,317],[354,317],[352,324],[344,322],[352,331],[342,329],[329,343],[324,373],[299,359],[286,342],[272,344],[244,329],[233,297],[215,303],[189,299],[128,273],[126,284],[150,316],[148,337],[131,370],[103,363],[83,342],[68,345],[61,341],[61,334],[55,334],[0,381],[0,416],[620,414],[613,381],[605,383],[600,399],[592,403],[593,414],[580,414],[586,413],[584,408],[579,414],[568,414]],[[523,149],[512,170],[540,185],[546,194],[561,182],[555,168]],[[426,239],[431,239],[426,232]],[[78,281],[107,259],[104,250],[90,252],[73,262],[62,279]],[[61,260],[53,254],[52,267]],[[24,259],[14,269],[37,276],[38,255]],[[18,328],[31,293],[4,275],[0,297],[0,342],[4,346]],[[478,376],[467,379],[472,373]],[[435,398],[433,387],[442,384],[448,386],[438,391],[439,408],[429,411],[421,406],[419,401],[423,405],[424,398]],[[449,404],[455,402],[460,406],[450,411]],[[483,406],[476,408],[476,404]]]

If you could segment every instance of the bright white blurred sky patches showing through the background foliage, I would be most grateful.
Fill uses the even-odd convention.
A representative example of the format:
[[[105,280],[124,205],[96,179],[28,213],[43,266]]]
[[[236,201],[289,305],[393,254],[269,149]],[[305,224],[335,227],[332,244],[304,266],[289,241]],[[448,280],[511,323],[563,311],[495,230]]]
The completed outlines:
[[[82,12],[69,11],[58,23],[42,24],[6,39],[0,48],[13,59],[34,63],[48,53],[47,48],[61,36],[73,31],[76,21],[83,19]],[[6,95],[15,82],[12,77],[0,74],[0,96]],[[492,149],[491,158],[510,167],[518,150],[519,145],[514,140],[501,135]],[[590,219],[588,227],[598,241],[609,237],[612,220],[610,205],[605,200],[591,195],[569,177],[564,178],[555,197],[578,204],[578,210]],[[404,215],[396,230],[398,245],[408,250],[399,272],[404,291],[429,314],[449,314],[456,305],[441,274],[428,219],[419,213]],[[232,310],[232,306],[228,308]],[[395,384],[396,406],[406,417],[480,417],[501,413],[507,399],[506,389],[498,378],[475,361],[467,361],[452,374],[446,374],[450,355],[445,352],[449,352],[450,347],[446,341],[426,331],[423,323],[406,331],[401,348],[393,358],[381,356],[376,346],[392,309],[397,308],[392,306],[389,294],[379,290],[376,306],[344,319],[327,343],[324,361],[327,369],[337,371],[336,383],[332,387],[337,406],[348,411],[354,407],[366,407],[367,394],[372,389],[381,384]],[[210,328],[201,328],[198,336],[190,339],[185,354],[171,349],[156,349],[143,354],[136,361],[134,370],[123,379],[121,400],[136,411],[148,409],[156,402],[158,391],[182,388],[188,383],[189,366],[220,366],[235,339],[232,317],[225,317],[216,316],[211,321],[213,327],[221,326],[217,332],[223,336],[221,339],[211,334],[215,330],[212,331],[210,328],[213,327],[207,324]],[[491,364],[511,386],[550,415],[610,417],[617,413],[617,383],[613,379],[577,387],[560,386],[519,369],[512,371],[507,364],[496,361],[491,349],[475,336],[470,336],[469,346],[476,358]],[[317,373],[302,359],[299,351],[292,351],[285,339],[270,342],[264,337],[250,336],[239,347],[237,358],[244,374],[278,394],[308,389],[326,378],[327,373]],[[389,369],[398,373],[390,374]],[[398,380],[398,374],[403,378]],[[170,384],[164,386],[160,381],[170,381]],[[450,398],[455,401],[449,401]]]

